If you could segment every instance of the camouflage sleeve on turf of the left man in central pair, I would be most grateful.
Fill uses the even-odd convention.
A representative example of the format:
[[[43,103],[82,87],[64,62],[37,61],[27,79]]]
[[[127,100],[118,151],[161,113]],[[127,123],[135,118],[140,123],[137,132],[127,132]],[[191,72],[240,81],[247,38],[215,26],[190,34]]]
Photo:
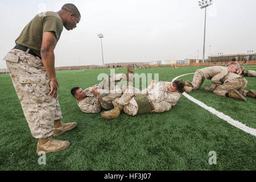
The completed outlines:
[[[86,100],[86,102],[79,107],[84,113],[100,113],[101,111],[100,101],[96,97],[92,100]]]

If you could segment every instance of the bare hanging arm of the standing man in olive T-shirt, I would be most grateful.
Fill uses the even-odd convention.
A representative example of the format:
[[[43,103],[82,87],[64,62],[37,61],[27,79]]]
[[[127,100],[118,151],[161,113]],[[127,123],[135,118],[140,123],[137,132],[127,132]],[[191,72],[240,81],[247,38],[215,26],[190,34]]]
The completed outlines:
[[[55,55],[54,49],[57,43],[57,39],[53,32],[44,32],[42,38],[42,46],[41,46],[41,56],[44,68],[46,68],[46,72],[50,78],[50,87],[51,91],[49,92],[49,96],[57,97],[59,82],[56,78],[55,73]]]

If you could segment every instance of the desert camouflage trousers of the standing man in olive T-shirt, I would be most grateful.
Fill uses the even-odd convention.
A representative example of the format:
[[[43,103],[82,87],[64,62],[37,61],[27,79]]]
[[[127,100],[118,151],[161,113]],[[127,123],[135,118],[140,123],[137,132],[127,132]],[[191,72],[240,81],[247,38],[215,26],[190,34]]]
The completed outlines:
[[[5,60],[32,136],[51,136],[53,120],[62,116],[59,101],[48,96],[50,80],[42,60],[18,49],[7,53]]]

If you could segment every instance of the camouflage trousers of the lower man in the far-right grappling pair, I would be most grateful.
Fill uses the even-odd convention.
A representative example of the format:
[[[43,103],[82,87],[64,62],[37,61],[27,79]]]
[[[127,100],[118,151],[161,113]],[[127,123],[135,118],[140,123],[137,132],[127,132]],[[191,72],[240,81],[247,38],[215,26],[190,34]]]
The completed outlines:
[[[225,96],[227,92],[230,90],[237,90],[240,92],[243,96],[246,96],[247,91],[244,90],[247,85],[247,80],[243,77],[240,78],[233,78],[230,80],[226,80],[224,84],[217,86],[217,88],[213,91],[214,94],[218,96]]]

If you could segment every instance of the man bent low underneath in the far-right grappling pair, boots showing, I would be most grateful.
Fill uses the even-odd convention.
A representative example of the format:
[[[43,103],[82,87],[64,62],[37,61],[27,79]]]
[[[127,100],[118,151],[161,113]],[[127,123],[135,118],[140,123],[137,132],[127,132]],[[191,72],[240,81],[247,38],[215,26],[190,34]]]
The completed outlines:
[[[247,101],[245,96],[256,98],[255,90],[244,90],[247,85],[247,80],[240,75],[228,73],[228,75],[224,76],[221,81],[223,84],[217,86],[217,88],[215,84],[212,84],[210,88],[206,87],[205,90],[211,91],[217,96],[233,97],[242,101]]]

